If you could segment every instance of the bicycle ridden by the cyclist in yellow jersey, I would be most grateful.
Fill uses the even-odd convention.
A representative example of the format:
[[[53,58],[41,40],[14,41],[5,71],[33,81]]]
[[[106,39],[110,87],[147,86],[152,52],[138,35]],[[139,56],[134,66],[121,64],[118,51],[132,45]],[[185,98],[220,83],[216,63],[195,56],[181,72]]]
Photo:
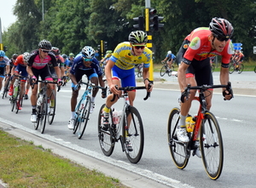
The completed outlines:
[[[144,131],[143,120],[137,108],[130,105],[128,91],[134,89],[144,89],[145,87],[125,87],[118,88],[123,91],[122,97],[124,98],[124,107],[118,121],[113,119],[113,110],[109,112],[109,125],[104,128],[102,125],[103,108],[102,105],[98,116],[98,137],[102,152],[105,156],[109,157],[113,153],[115,142],[120,140],[122,151],[125,151],[126,157],[132,163],[137,163],[143,156],[144,147]],[[150,93],[147,93],[144,100],[148,100]],[[118,97],[113,95],[112,101]],[[131,143],[132,149],[127,145]]]

